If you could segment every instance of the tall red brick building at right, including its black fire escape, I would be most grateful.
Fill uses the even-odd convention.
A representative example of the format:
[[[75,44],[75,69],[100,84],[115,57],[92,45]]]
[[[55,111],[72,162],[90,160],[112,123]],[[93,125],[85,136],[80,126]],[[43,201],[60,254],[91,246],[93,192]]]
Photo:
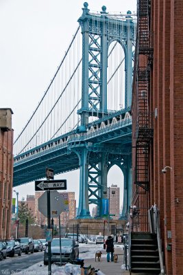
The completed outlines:
[[[158,206],[166,274],[177,275],[183,274],[183,1],[143,3],[151,9],[145,14],[138,5],[132,204],[146,214],[141,231],[148,230],[147,209]]]

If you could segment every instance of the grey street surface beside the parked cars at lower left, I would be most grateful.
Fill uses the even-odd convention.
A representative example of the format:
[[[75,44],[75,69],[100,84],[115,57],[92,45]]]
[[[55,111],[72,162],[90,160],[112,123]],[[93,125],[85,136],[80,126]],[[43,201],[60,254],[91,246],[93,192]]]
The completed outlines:
[[[21,270],[26,270],[29,266],[43,261],[43,255],[44,252],[34,252],[33,254],[7,257],[6,259],[3,259],[3,261],[0,261],[0,274],[16,274],[16,272],[18,273]]]

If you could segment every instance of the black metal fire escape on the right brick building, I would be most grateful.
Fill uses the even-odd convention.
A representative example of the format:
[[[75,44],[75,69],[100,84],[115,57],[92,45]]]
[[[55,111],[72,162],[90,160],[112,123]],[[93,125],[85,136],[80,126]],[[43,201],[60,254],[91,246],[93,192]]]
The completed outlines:
[[[153,48],[150,35],[150,0],[138,0],[138,40],[137,40],[137,124],[136,124],[136,193],[149,190],[149,148],[153,137],[149,116],[150,69]],[[139,188],[140,187],[140,188]]]

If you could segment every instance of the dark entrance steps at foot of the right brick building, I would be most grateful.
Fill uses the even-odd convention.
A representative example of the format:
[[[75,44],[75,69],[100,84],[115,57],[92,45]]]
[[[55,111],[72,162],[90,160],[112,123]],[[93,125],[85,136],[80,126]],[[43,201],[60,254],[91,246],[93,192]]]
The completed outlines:
[[[132,232],[131,234],[131,272],[160,274],[156,235],[148,232]]]

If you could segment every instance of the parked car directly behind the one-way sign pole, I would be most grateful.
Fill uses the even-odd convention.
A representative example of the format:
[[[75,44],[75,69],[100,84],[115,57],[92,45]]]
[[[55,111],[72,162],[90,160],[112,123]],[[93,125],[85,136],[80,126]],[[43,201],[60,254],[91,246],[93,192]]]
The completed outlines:
[[[62,262],[71,262],[79,257],[79,244],[75,239],[61,239],[62,243]],[[51,241],[51,263],[60,262],[60,239]],[[44,265],[48,265],[48,247],[44,252]]]

